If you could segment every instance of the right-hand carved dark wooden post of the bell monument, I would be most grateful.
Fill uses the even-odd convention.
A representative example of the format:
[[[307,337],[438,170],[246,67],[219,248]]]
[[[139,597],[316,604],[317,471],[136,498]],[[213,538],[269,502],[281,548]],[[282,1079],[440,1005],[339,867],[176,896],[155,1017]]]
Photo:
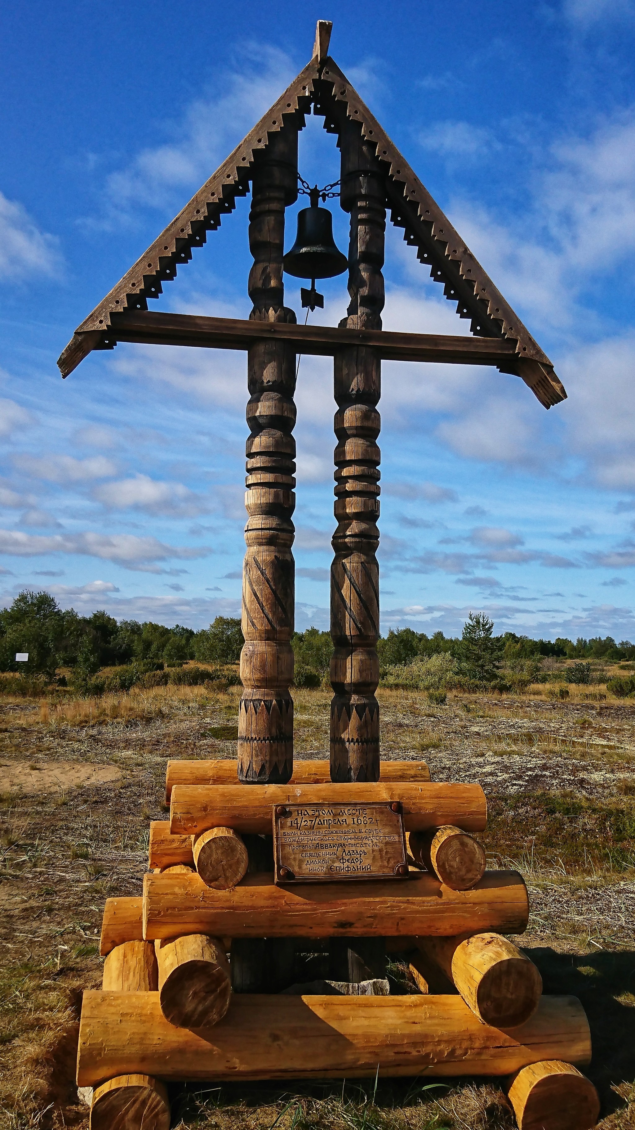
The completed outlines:
[[[340,130],[341,207],[350,212],[348,318],[340,325],[381,330],[384,305],[385,182],[374,146],[356,122]],[[331,780],[377,781],[380,707],[375,690],[380,668],[380,541],[377,466],[381,360],[366,346],[334,355],[334,428],[338,528],[331,567]]]

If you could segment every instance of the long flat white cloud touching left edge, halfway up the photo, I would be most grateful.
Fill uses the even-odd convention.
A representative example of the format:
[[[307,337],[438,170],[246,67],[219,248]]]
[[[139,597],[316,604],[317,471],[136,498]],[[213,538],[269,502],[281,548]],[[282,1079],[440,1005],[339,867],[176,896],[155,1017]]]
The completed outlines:
[[[14,557],[38,557],[45,554],[80,554],[99,557],[123,568],[143,573],[165,573],[156,562],[169,558],[184,560],[206,557],[207,548],[192,549],[168,546],[156,538],[139,538],[131,533],[55,533],[50,537],[23,533],[20,530],[0,530],[0,553]],[[169,571],[168,571],[169,572]]]

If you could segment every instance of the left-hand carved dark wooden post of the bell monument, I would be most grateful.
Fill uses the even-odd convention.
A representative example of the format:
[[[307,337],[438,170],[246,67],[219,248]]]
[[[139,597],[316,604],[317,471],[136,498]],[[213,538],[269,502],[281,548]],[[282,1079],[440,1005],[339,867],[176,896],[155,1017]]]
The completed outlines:
[[[250,318],[295,322],[293,310],[284,305],[282,287],[285,206],[297,198],[294,125],[270,136],[254,168],[252,192]],[[284,783],[293,773],[295,370],[293,346],[262,341],[249,349],[238,777],[259,784]]]

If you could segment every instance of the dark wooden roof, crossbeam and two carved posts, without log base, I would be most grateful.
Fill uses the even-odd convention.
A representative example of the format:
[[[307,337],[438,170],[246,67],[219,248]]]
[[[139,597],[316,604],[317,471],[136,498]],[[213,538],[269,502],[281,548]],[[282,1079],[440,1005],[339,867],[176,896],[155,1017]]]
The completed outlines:
[[[68,376],[93,349],[118,341],[244,349],[247,354],[247,478],[243,570],[245,638],[238,713],[238,777],[284,783],[293,772],[294,471],[296,357],[333,357],[337,446],[331,567],[331,780],[377,781],[380,379],[382,359],[495,365],[520,376],[545,408],[566,398],[551,362],[328,54],[331,24],[318,23],[313,58],[230,157],[92,314],[58,364]],[[305,115],[337,134],[340,203],[350,214],[347,318],[297,325],[285,306],[285,208],[298,194],[297,142]],[[249,321],[148,312],[236,197],[252,192]],[[417,249],[471,338],[382,331],[386,209]]]

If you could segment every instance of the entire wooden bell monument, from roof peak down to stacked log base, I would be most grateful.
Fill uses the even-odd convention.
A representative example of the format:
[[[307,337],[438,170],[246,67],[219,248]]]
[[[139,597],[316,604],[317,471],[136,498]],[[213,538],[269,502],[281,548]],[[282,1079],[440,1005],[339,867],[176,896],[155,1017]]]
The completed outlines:
[[[545,408],[566,392],[328,54],[330,32],[320,20],[310,63],[58,363],[67,376],[118,341],[240,349],[249,389],[237,763],[168,763],[169,820],[151,824],[142,897],[106,901],[103,985],[84,994],[77,1081],[94,1088],[92,1130],[168,1130],[167,1083],[377,1075],[508,1077],[519,1130],[589,1130],[599,1104],[581,1074],[586,1016],[575,998],[543,994],[538,968],[505,937],[527,928],[529,897],[519,873],[486,870],[485,793],[433,783],[415,759],[382,765],[376,695],[382,360],[495,366]],[[349,217],[350,302],[331,327],[298,325],[285,305],[285,211],[298,180],[307,188],[298,132],[311,113],[340,150],[340,181],[311,190],[312,207],[315,193],[339,195]],[[148,299],[250,190],[249,319],[150,313]],[[384,333],[386,220],[471,337]],[[328,762],[294,760],[303,353],[332,357],[337,409]],[[409,966],[408,996],[392,991],[386,953]]]

